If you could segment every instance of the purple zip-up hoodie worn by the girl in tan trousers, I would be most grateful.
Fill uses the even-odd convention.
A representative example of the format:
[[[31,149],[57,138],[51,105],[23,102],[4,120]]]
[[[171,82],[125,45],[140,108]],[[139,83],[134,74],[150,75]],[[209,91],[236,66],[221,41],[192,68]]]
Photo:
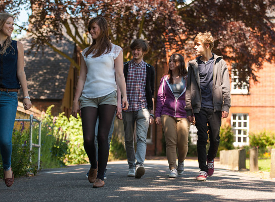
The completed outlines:
[[[160,80],[157,107],[155,116],[169,115],[175,118],[187,118],[185,111],[185,89],[181,92],[178,98],[175,97],[169,84],[169,76],[165,75]],[[187,77],[185,78],[185,85],[187,84]]]

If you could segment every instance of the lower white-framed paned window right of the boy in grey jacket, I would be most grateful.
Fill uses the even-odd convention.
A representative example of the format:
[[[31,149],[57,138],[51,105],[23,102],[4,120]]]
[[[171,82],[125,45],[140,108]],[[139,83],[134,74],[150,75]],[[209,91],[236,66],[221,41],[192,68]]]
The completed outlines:
[[[236,119],[234,119],[236,115]],[[246,119],[244,117],[246,116]],[[234,126],[235,122],[235,126]],[[244,126],[246,122],[246,127]],[[240,124],[240,125],[239,125]],[[234,146],[246,146],[249,145],[249,114],[246,113],[234,113],[231,115],[231,127],[234,133]],[[244,138],[246,141],[244,142]],[[238,141],[236,141],[238,139]],[[239,141],[241,139],[241,141]]]

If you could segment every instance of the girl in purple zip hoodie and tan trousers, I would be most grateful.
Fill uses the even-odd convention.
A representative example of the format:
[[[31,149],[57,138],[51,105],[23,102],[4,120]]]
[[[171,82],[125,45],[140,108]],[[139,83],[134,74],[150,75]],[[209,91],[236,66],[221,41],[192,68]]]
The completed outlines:
[[[185,59],[180,54],[173,54],[168,66],[168,73],[160,81],[155,116],[156,123],[162,125],[164,131],[169,177],[175,178],[177,174],[184,173],[184,160],[188,151],[190,122],[185,111],[187,69]]]

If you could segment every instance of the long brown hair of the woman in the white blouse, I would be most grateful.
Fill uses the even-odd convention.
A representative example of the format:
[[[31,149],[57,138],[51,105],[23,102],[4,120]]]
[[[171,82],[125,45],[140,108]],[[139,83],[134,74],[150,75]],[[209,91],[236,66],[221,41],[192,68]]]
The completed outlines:
[[[91,45],[88,47],[88,50],[85,53],[85,57],[87,57],[90,53],[93,53],[93,58],[96,58],[102,54],[110,53],[112,49],[112,45],[109,40],[109,28],[106,19],[101,16],[91,19],[88,24],[88,32],[90,32],[94,23],[100,27],[100,35],[96,40],[93,40]]]

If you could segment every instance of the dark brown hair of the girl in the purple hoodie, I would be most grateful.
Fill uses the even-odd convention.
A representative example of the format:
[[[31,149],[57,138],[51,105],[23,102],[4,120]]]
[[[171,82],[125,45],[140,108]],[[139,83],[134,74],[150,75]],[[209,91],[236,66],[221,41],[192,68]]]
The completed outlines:
[[[177,64],[176,68],[178,69],[178,75],[185,78],[187,76],[187,69],[185,66],[185,58],[181,54],[173,54],[170,57],[169,61],[173,60],[173,59],[175,60],[175,62]],[[167,75],[169,76],[169,83],[173,84],[174,83],[173,75],[172,75],[172,71],[170,69],[168,70]]]

